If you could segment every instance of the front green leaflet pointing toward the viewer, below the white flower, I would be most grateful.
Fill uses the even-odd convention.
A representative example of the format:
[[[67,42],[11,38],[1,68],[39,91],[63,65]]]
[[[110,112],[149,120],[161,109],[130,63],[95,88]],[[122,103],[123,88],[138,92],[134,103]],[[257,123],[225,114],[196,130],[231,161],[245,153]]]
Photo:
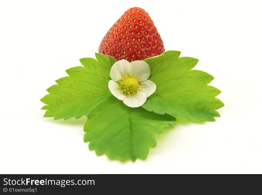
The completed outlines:
[[[127,107],[113,96],[104,99],[88,113],[84,141],[97,155],[106,154],[121,161],[146,159],[156,146],[155,134],[173,124],[175,118],[145,109]]]

